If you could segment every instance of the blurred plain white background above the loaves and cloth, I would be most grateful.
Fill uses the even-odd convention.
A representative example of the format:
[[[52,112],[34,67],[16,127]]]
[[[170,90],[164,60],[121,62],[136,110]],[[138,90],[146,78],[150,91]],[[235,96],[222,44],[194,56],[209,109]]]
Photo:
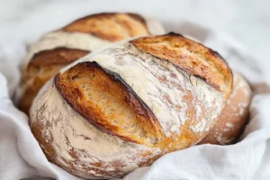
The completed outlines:
[[[102,2],[102,3],[101,3]],[[56,4],[55,12],[46,12],[50,5]],[[66,12],[65,7],[82,4],[83,10],[74,8]],[[268,55],[270,44],[270,1],[268,0],[124,0],[124,1],[52,1],[52,0],[0,0],[0,40],[18,39],[19,34],[31,31],[32,26],[48,24],[57,27],[58,16],[64,14],[91,14],[95,5],[103,5],[104,10],[113,11],[116,7],[122,11],[155,14],[165,22],[170,19],[186,19],[200,23],[212,30],[223,31],[244,44],[257,58]],[[63,6],[63,8],[61,8]],[[79,6],[79,5],[76,5]],[[89,6],[89,11],[85,6]],[[99,7],[100,8],[100,7]],[[44,14],[44,12],[46,12]],[[46,14],[56,14],[54,19],[47,19]],[[42,18],[40,18],[40,14]],[[33,21],[38,16],[40,21]],[[29,20],[30,19],[30,20]],[[28,22],[24,22],[29,20]],[[20,32],[20,33],[18,33]]]

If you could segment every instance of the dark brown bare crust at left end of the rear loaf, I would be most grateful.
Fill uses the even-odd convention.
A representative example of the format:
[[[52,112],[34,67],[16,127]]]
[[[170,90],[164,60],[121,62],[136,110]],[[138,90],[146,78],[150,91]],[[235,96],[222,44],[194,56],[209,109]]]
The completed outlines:
[[[89,51],[80,49],[57,48],[44,50],[34,55],[23,74],[22,84],[26,89],[19,103],[19,109],[29,114],[31,103],[44,85],[52,76],[58,74],[62,67],[85,56]]]

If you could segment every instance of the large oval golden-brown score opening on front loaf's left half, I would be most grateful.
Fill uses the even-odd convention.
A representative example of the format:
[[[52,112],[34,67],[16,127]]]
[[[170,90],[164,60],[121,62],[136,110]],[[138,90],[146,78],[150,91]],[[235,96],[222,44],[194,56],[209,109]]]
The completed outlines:
[[[79,63],[58,74],[55,85],[76,112],[106,133],[147,146],[153,146],[157,140],[148,142],[145,136],[153,139],[162,136],[160,124],[147,105],[119,76],[108,73],[95,62]],[[115,108],[115,104],[118,110],[110,109]],[[143,137],[129,132],[130,123],[134,121],[136,128],[145,134]]]

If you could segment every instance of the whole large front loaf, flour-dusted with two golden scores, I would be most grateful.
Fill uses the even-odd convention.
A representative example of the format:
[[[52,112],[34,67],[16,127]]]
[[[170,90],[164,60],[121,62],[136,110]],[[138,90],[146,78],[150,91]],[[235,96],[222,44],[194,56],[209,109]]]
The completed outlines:
[[[83,178],[121,177],[195,145],[229,97],[220,55],[175,33],[80,58],[42,87],[31,130],[49,161]]]

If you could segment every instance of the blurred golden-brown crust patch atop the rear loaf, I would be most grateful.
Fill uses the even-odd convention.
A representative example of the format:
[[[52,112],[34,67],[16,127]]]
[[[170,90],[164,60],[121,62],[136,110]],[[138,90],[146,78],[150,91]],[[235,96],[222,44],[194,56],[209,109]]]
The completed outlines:
[[[103,40],[110,41],[149,34],[146,22],[139,14],[93,14],[68,24],[62,30],[91,33]]]

